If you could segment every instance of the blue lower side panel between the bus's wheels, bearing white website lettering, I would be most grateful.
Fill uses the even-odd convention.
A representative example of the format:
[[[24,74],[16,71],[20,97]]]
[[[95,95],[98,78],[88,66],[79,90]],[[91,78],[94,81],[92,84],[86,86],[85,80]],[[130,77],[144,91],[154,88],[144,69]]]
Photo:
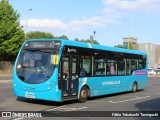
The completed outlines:
[[[93,96],[129,91],[132,85],[129,78],[127,76],[95,77]]]

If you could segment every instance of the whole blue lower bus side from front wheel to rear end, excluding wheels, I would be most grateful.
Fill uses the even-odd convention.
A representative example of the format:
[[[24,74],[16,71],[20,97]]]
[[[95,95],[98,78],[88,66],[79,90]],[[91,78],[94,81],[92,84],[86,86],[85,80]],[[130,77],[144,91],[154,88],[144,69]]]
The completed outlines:
[[[92,96],[113,94],[132,90],[132,85],[137,82],[138,90],[144,89],[147,84],[147,76],[110,76],[95,77]]]

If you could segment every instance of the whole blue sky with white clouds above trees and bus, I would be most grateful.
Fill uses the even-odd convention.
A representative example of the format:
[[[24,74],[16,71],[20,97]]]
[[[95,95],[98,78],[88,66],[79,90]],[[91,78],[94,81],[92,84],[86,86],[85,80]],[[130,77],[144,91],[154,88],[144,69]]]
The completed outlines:
[[[43,31],[101,45],[123,44],[123,37],[160,45],[160,0],[9,0],[25,32]],[[29,11],[32,9],[31,11]],[[27,21],[27,25],[26,25]]]

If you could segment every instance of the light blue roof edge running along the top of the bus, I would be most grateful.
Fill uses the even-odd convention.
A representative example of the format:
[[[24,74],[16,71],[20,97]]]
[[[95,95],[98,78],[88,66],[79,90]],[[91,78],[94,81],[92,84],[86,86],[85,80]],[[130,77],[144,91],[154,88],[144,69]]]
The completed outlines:
[[[73,46],[73,47],[83,47],[83,48],[91,48],[91,49],[97,49],[97,50],[108,50],[108,51],[114,51],[114,52],[147,55],[146,52],[139,51],[139,50],[128,50],[128,49],[124,49],[124,48],[91,44],[91,43],[79,42],[79,41],[74,41],[74,40],[65,40],[65,39],[57,39],[57,38],[53,38],[53,39],[42,38],[42,39],[26,40],[26,42],[28,42],[28,41],[61,41],[61,46],[68,45],[68,46]]]

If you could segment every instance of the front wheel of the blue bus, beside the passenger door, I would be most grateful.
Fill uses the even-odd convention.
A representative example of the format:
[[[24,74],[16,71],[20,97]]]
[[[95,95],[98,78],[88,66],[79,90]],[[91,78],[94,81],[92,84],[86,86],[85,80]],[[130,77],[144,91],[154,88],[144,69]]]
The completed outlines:
[[[84,103],[88,98],[88,89],[86,86],[83,86],[79,95],[79,102]]]

